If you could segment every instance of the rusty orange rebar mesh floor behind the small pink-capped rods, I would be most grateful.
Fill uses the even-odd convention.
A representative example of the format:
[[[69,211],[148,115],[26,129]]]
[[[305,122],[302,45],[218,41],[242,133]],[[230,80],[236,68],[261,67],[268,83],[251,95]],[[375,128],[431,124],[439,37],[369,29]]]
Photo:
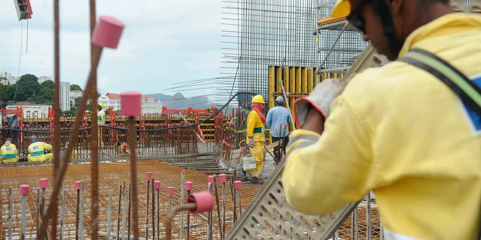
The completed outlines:
[[[165,218],[168,214],[169,199],[167,197],[166,187],[175,187],[176,192],[173,198],[173,204],[178,205],[180,201],[180,175],[181,171],[185,170],[185,179],[194,182],[193,192],[201,192],[207,190],[207,175],[190,171],[183,168],[174,167],[166,163],[160,163],[153,160],[143,161],[138,165],[138,182],[139,182],[139,231],[141,236],[145,236],[145,209],[146,209],[146,181],[144,179],[144,172],[152,172],[152,177],[155,180],[160,180],[162,188],[160,194],[160,226],[161,236],[165,236]],[[124,180],[130,179],[129,162],[122,163],[100,163],[99,164],[99,230],[107,231],[107,216],[109,206],[109,192],[113,192],[113,207],[112,207],[112,222],[111,231],[117,232],[117,204],[118,204],[118,189],[119,185],[124,184]],[[66,213],[63,221],[65,222],[64,239],[75,239],[75,224],[76,224],[76,190],[75,181],[83,180],[85,185],[85,203],[84,203],[84,239],[89,239],[90,225],[90,164],[75,164],[69,166],[67,174],[64,179],[65,194],[66,194]],[[19,186],[21,184],[29,184],[31,186],[30,193],[27,195],[27,239],[36,239],[37,231],[37,189],[38,180],[40,178],[47,178],[52,183],[52,167],[51,166],[26,166],[26,167],[8,167],[2,168],[1,171],[2,182],[0,183],[0,205],[1,205],[1,224],[0,224],[0,239],[7,238],[8,228],[8,205],[9,205],[9,188],[13,188],[14,194],[14,212],[13,212],[13,239],[20,237],[20,216],[21,216],[21,196],[19,195]],[[128,185],[128,182],[127,182]],[[50,197],[50,186],[47,189],[47,202]],[[222,184],[217,182],[219,194],[222,194]],[[245,209],[251,202],[254,195],[257,193],[259,185],[244,184],[241,190],[241,208]],[[226,229],[232,226],[232,202],[230,196],[230,188],[226,184]],[[220,199],[222,199],[220,197]],[[60,202],[58,204],[60,206]],[[122,211],[120,211],[122,213]],[[152,218],[152,209],[150,211]],[[122,214],[121,214],[122,215]],[[207,215],[191,216],[190,222],[190,236],[191,239],[207,239]],[[217,219],[216,207],[213,210],[214,219]],[[59,221],[60,222],[60,221]],[[150,225],[152,222],[150,222]],[[217,228],[217,221],[214,220],[213,234],[214,239],[220,239],[219,230]],[[58,227],[60,229],[60,226]],[[180,218],[177,214],[173,221],[173,238],[178,239],[180,228]],[[122,227],[120,229],[123,229]],[[149,227],[150,236],[152,236],[152,226]],[[60,234],[60,233],[59,233]],[[122,234],[122,232],[120,232]],[[131,232],[132,234],[132,232]],[[186,221],[184,220],[184,236],[186,236]],[[59,236],[60,237],[60,236]]]

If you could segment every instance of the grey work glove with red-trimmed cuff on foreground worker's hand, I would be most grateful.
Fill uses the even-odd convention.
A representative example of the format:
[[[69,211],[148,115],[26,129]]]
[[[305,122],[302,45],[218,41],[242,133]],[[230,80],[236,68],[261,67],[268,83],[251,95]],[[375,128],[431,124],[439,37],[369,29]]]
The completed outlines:
[[[329,116],[330,106],[346,87],[347,81],[340,78],[329,78],[317,84],[309,96],[294,102],[294,116],[298,126],[303,126],[310,106],[318,110],[324,120]]]

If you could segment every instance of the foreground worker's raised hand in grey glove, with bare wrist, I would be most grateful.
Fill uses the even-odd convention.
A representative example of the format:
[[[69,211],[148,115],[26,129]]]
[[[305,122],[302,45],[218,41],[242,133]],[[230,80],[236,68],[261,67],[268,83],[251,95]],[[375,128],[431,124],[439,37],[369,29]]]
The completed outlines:
[[[347,81],[339,78],[329,78],[317,84],[309,96],[302,97],[294,102],[294,115],[297,125],[302,129],[317,132],[329,116],[331,103],[346,87]],[[311,112],[317,112],[311,113]],[[320,121],[322,117],[322,121]],[[313,118],[312,121],[308,118]],[[315,125],[321,125],[316,126]],[[322,131],[321,131],[322,132]]]

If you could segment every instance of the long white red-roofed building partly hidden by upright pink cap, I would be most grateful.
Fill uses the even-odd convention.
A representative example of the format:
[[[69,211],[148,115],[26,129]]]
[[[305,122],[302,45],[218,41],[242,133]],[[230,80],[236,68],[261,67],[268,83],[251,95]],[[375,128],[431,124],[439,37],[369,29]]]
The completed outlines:
[[[103,110],[113,107],[114,111],[120,110],[120,94],[107,93],[98,98],[99,103],[103,103]],[[162,113],[162,102],[149,96],[140,98],[140,107],[142,114],[144,113]]]

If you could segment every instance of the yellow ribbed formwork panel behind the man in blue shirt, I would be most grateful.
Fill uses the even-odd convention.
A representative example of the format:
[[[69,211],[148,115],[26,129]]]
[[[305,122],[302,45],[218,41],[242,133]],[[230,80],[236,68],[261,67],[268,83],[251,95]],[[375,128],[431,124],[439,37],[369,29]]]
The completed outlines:
[[[277,96],[283,96],[280,81],[284,84],[287,99],[291,111],[293,111],[294,102],[303,96],[309,95],[316,86],[322,81],[322,77],[316,74],[317,69],[306,66],[269,66],[269,109],[274,108]],[[322,72],[326,78],[342,78],[343,73]],[[294,117],[292,115],[292,117]],[[295,120],[294,120],[295,121]],[[278,126],[275,126],[277,128]],[[296,128],[299,126],[296,125]],[[292,123],[289,131],[292,131]]]

